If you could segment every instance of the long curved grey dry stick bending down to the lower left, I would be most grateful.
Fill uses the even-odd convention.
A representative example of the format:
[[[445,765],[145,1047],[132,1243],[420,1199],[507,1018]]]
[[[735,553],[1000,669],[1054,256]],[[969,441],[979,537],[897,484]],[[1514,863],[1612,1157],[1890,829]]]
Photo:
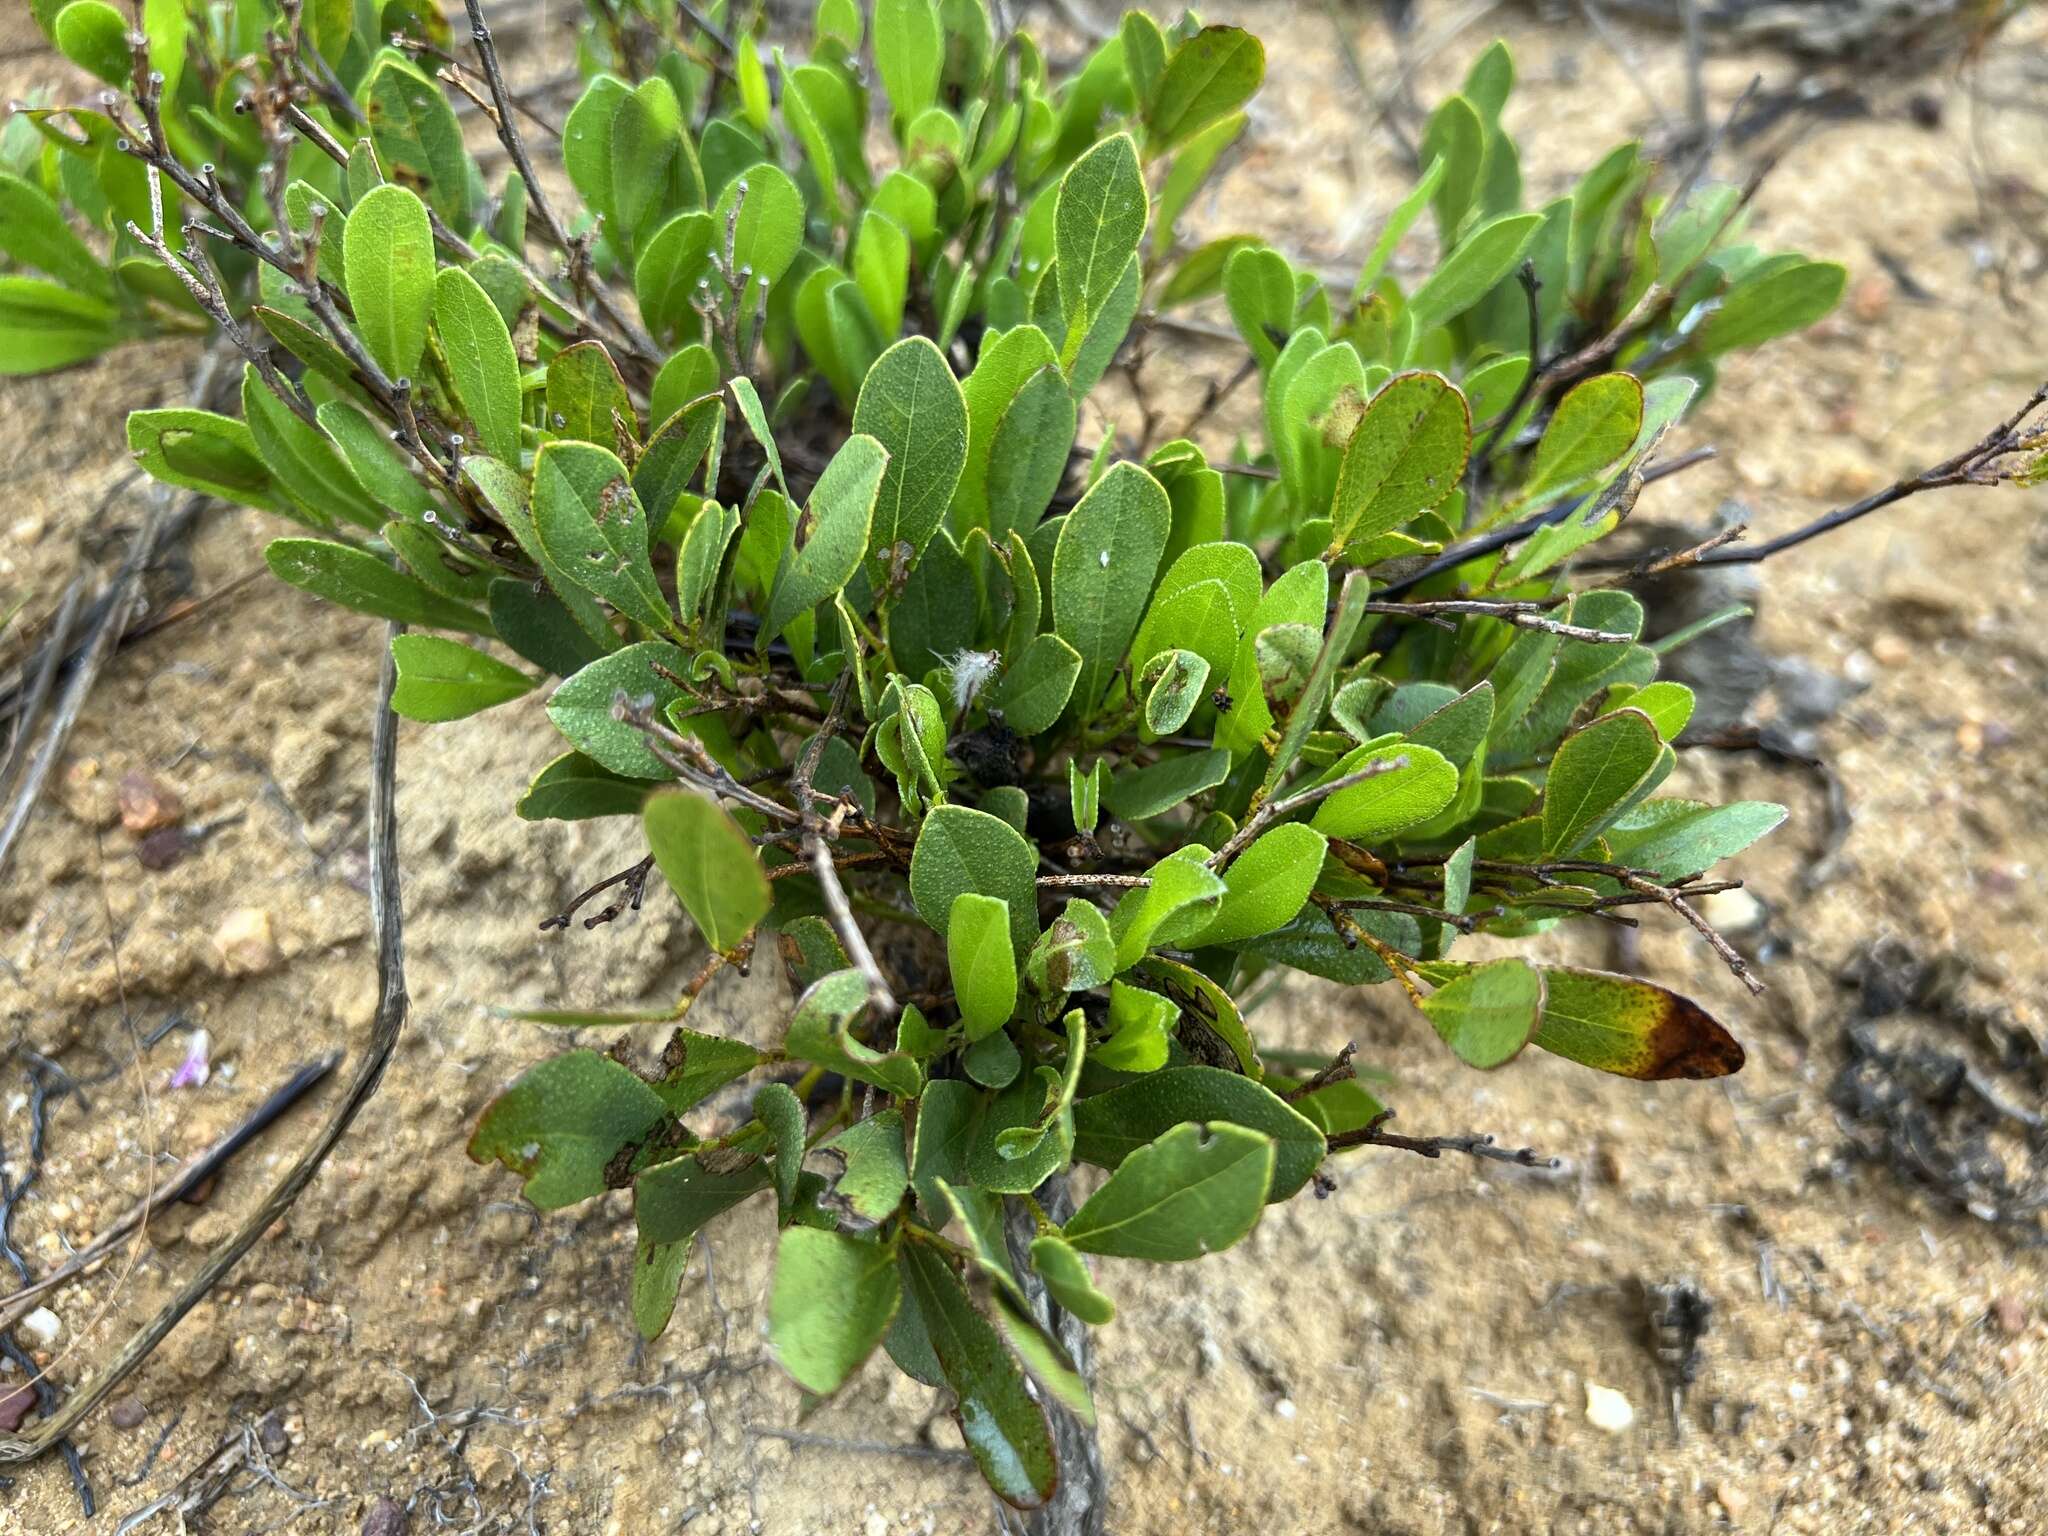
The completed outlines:
[[[403,633],[401,625],[391,627],[391,635]],[[248,1214],[236,1235],[207,1255],[199,1272],[184,1282],[156,1317],[139,1327],[119,1354],[72,1393],[63,1407],[43,1419],[33,1436],[0,1436],[0,1464],[29,1462],[51,1450],[106,1397],[133,1374],[143,1360],[160,1346],[178,1321],[193,1311],[221,1282],[242,1255],[279,1221],[293,1202],[313,1182],[328,1153],[342,1139],[356,1114],[369,1104],[383,1079],[383,1069],[397,1047],[399,1030],[406,1024],[406,934],[403,909],[397,885],[397,715],[391,713],[391,690],[397,686],[397,668],[391,649],[385,647],[383,678],[377,688],[377,715],[371,735],[371,934],[377,942],[377,1018],[371,1024],[371,1049],[348,1081],[348,1092],[334,1106],[334,1114],[319,1128],[313,1143],[299,1153],[299,1159],[279,1180],[264,1202]]]

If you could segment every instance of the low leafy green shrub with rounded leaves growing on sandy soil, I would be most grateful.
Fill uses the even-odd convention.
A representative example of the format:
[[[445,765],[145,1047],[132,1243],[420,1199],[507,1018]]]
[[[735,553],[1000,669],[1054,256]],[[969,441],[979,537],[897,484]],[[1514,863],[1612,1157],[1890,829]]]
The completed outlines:
[[[657,868],[709,958],[674,1010],[547,1018],[791,977],[766,1044],[567,1051],[471,1141],[547,1210],[633,1190],[647,1335],[764,1196],[788,1374],[827,1395],[885,1348],[1036,1505],[1047,1415],[1090,1395],[1026,1292],[1110,1323],[1094,1262],[1231,1247],[1384,1141],[1348,1063],[1262,1055],[1278,977],[1393,983],[1481,1069],[1741,1065],[1653,983],[1456,958],[1696,918],[1782,819],[1659,795],[1686,635],[1573,578],[1716,358],[1841,293],[1741,244],[1737,188],[1624,143],[1526,207],[1495,45],[1346,287],[1257,229],[1180,238],[1266,68],[1192,16],[1057,78],[983,0],[823,0],[782,47],[748,6],[594,4],[571,199],[475,0],[469,35],[406,0],[35,12],[109,92],[0,139],[0,367],[238,348],[227,412],[129,418],[137,463],[301,524],[283,580],[410,627],[399,713],[549,690],[516,813],[637,819],[612,911]],[[1133,338],[1219,297],[1255,438],[1079,440]],[[1106,1178],[1055,1221],[1075,1163]]]

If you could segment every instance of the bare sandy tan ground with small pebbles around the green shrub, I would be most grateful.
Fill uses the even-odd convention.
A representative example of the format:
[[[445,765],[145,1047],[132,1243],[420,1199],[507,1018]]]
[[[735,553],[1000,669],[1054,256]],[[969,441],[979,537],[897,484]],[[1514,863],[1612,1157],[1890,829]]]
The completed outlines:
[[[557,27],[573,6],[559,10]],[[1374,94],[1391,88],[1378,8],[1346,14]],[[1542,197],[1616,137],[1657,131],[1653,102],[1683,117],[1669,35],[1612,25],[1602,39],[1520,8],[1473,16],[1419,8],[1417,37],[1450,41],[1415,90],[1434,100],[1503,33],[1522,70],[1507,119]],[[1233,4],[1210,18],[1260,31],[1270,72],[1249,152],[1194,221],[1221,233],[1270,217],[1296,254],[1356,264],[1403,174],[1327,16]],[[31,39],[10,8],[0,90],[76,92],[49,55],[18,53]],[[1638,516],[1702,526],[1739,498],[1759,537],[1780,532],[1974,440],[2040,381],[2044,57],[2036,20],[1972,70],[1825,76],[1868,113],[1806,119],[1755,225],[1847,262],[1849,299],[1810,336],[1729,367],[1675,444],[1720,457],[1659,483]],[[1798,80],[1782,55],[1710,57],[1716,113],[1759,72],[1772,88]],[[1741,176],[1755,154],[1724,150],[1718,168]],[[80,561],[117,557],[139,510],[133,487],[117,489],[121,412],[172,401],[188,360],[158,346],[0,389],[0,606],[27,596],[39,621]],[[1149,379],[1192,389],[1229,367],[1194,350]],[[2048,1264],[2028,1225],[2040,1212],[1989,1221],[1995,1200],[1970,1208],[1903,1178],[1913,1157],[1929,1165],[1923,1143],[1851,1157],[1876,1133],[1835,1104],[1849,1024],[1886,1014],[1882,977],[1860,991],[1841,977],[1888,940],[1942,985],[1860,1038],[1974,1053],[1976,1081],[1991,1073],[2007,1106],[1976,1151],[2003,1155],[2015,1182],[2028,1171],[2019,1130],[2048,1096],[2025,1069],[2048,995],[2044,510],[2040,492],[1913,500],[1755,575],[1757,639],[1804,664],[1780,670],[1757,719],[1810,733],[1849,825],[1831,846],[1808,768],[1690,754],[1675,788],[1794,811],[1739,868],[1759,899],[1743,942],[1769,991],[1751,999],[1681,928],[1649,924],[1636,956],[1747,1042],[1737,1079],[1645,1087],[1548,1057],[1479,1075],[1376,995],[1300,985],[1268,1004],[1255,1026],[1272,1042],[1329,1053],[1356,1038],[1391,1073],[1403,1128],[1491,1130],[1565,1167],[1352,1155],[1329,1165],[1327,1200],[1274,1208],[1221,1257],[1104,1264],[1120,1309],[1098,1333],[1112,1532],[2048,1532]],[[258,514],[209,514],[186,551],[190,590],[256,567],[270,532]],[[94,694],[0,891],[0,1149],[14,1176],[35,1073],[76,1083],[49,1104],[41,1178],[14,1212],[37,1272],[293,1067],[360,1051],[379,633],[256,580],[129,647]],[[49,1458],[0,1491],[0,1532],[115,1530],[244,1430],[248,1456],[205,1530],[993,1528],[950,1419],[881,1362],[801,1417],[766,1352],[764,1206],[713,1229],[668,1335],[641,1346],[625,1198],[537,1217],[506,1176],[463,1157],[492,1094],[561,1044],[494,1004],[666,999],[694,963],[666,895],[594,934],[537,930],[629,858],[629,829],[510,815],[553,752],[541,696],[459,729],[403,729],[414,1016],[383,1092],[131,1378],[133,1401],[90,1421],[98,1518]],[[143,866],[123,829],[129,774],[207,829],[168,868]],[[1546,948],[1626,958],[1579,934]],[[721,981],[696,1022],[764,1040],[780,1004],[762,967]],[[195,1028],[213,1075],[170,1087]],[[1987,1040],[2005,1042],[2003,1063],[1985,1065]],[[51,1300],[61,1333],[39,1358],[55,1380],[88,1376],[227,1237],[332,1094],[244,1153],[205,1204]],[[1675,1282],[1712,1313],[1673,1411],[1647,1296]],[[8,1372],[0,1397],[20,1380]],[[1589,1417],[1593,1386],[1626,1399],[1632,1423],[1595,1425],[1614,1421]],[[168,1513],[137,1526],[172,1528]]]

